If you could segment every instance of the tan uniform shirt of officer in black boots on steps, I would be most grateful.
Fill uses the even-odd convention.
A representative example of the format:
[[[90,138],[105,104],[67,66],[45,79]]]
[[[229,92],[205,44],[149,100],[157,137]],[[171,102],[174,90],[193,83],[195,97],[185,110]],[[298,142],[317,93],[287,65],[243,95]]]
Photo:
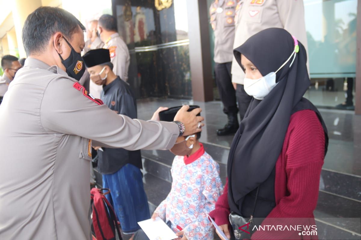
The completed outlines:
[[[214,1],[209,8],[214,32],[214,62],[228,63],[233,58],[234,16],[236,0]]]

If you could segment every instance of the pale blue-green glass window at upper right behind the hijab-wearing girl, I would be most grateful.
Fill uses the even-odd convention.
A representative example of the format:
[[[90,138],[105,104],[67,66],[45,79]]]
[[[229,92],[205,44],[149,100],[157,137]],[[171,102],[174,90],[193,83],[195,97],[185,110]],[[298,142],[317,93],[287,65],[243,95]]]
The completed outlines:
[[[357,0],[304,0],[311,87],[322,107],[353,110]]]

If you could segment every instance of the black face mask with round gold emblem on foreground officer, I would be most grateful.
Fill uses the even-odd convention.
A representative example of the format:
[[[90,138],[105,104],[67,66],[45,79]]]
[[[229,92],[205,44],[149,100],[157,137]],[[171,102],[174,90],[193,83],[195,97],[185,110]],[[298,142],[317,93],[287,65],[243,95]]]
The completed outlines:
[[[60,56],[61,63],[66,68],[66,73],[68,73],[68,76],[79,81],[85,72],[83,58],[80,55],[80,53],[77,53],[73,49],[73,47],[70,45],[68,40],[66,40],[65,38],[64,38],[64,40],[66,41],[66,43],[68,43],[68,45],[71,48],[70,56],[69,56],[69,58],[64,60],[60,54],[58,54],[58,55]]]

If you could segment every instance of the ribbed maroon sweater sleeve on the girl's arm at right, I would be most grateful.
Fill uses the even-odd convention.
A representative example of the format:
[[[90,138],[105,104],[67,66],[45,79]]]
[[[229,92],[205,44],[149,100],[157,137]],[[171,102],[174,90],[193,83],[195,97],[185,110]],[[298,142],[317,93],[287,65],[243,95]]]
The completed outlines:
[[[324,159],[324,131],[316,113],[312,110],[299,111],[291,118],[293,119],[290,121],[285,138],[288,139],[288,146],[282,150],[282,154],[286,157],[286,196],[276,203],[262,225],[275,225],[272,218],[313,218],[313,211],[316,208]],[[276,171],[276,178],[277,175]],[[300,223],[300,220],[295,219],[295,223]],[[274,239],[272,233],[256,231],[252,239]],[[277,231],[274,234],[279,238],[281,233],[291,234],[288,231]],[[286,239],[284,237],[287,236],[283,236],[282,239]]]

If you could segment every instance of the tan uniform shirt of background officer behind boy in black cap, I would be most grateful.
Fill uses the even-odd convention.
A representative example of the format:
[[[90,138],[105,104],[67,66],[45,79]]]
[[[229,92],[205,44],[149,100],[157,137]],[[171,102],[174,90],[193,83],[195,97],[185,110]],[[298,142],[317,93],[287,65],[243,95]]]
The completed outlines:
[[[129,50],[119,33],[112,34],[105,41],[104,48],[109,49],[110,61],[113,63],[113,72],[122,80],[128,81],[128,69],[130,64]]]

